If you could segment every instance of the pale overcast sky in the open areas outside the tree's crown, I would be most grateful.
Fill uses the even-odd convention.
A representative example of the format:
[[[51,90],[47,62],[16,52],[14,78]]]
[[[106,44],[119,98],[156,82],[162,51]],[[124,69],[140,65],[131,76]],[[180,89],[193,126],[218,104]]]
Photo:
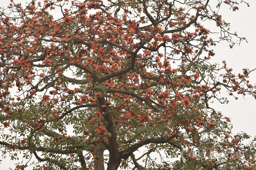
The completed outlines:
[[[6,7],[9,5],[9,0],[0,0],[0,6]],[[15,1],[15,0],[14,0]],[[16,0],[15,2],[26,2],[26,0]],[[217,3],[217,0],[212,0],[210,2]],[[250,7],[246,4],[239,5],[239,11],[232,12],[228,8],[221,8],[219,14],[222,18],[231,23],[231,32],[237,32],[240,37],[246,37],[248,43],[243,41],[240,46],[236,45],[233,49],[229,48],[229,44],[226,42],[221,42],[213,47],[215,56],[212,57],[212,61],[219,64],[223,60],[227,62],[227,67],[232,68],[236,74],[242,73],[243,68],[249,68],[250,70],[256,68],[256,0],[247,0]],[[225,4],[222,6],[224,7]],[[226,5],[227,6],[227,5]],[[207,28],[207,27],[206,27]],[[213,28],[215,25],[209,25],[210,31],[214,32]],[[216,30],[216,29],[215,29]],[[217,32],[218,30],[216,30]],[[219,37],[219,35],[217,35]],[[250,75],[250,83],[256,83],[256,71]],[[255,120],[256,120],[256,100],[252,96],[245,96],[245,99],[239,95],[239,99],[235,100],[233,97],[228,96],[223,88],[222,94],[218,97],[228,97],[228,104],[220,104],[217,101],[213,104],[210,103],[210,107],[221,111],[223,115],[231,118],[231,123],[233,124],[232,133],[246,132],[252,137],[256,136],[255,131]],[[0,156],[0,159],[1,156]],[[10,161],[9,158],[2,159],[3,162],[0,164],[1,170],[8,170],[9,167],[14,169],[15,164],[18,162]],[[32,167],[26,168],[26,170],[32,170]]]

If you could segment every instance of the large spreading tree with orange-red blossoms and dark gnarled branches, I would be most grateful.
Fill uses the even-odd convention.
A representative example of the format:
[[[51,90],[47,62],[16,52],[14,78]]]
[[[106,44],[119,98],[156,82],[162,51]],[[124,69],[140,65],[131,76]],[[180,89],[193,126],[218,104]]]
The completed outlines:
[[[209,104],[227,102],[221,87],[256,98],[252,70],[211,63],[218,40],[203,26],[215,22],[230,48],[246,40],[218,14],[238,3],[209,3],[11,1],[0,12],[3,155],[24,155],[17,170],[31,156],[34,169],[255,169],[255,139],[244,145]]]

